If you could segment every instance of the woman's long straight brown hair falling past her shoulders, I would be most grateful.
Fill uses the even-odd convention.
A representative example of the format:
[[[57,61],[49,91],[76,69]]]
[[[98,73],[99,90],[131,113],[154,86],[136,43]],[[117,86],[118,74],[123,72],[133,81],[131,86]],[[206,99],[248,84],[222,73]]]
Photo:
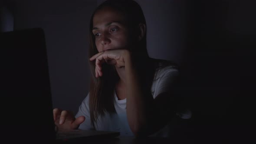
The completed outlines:
[[[128,27],[134,32],[138,32],[139,23],[143,23],[146,25],[146,20],[144,18],[144,14],[141,10],[141,7],[138,3],[133,0],[106,0],[102,4],[100,4],[94,13],[92,14],[90,20],[90,29],[89,29],[89,37],[90,37],[90,49],[89,49],[89,57],[94,56],[98,53],[98,50],[95,45],[95,36],[92,33],[93,28],[93,16],[98,11],[104,7],[111,7],[113,10],[118,10],[122,13],[126,20]],[[134,61],[136,61],[136,65],[138,65],[138,72],[141,73],[145,68],[147,69],[147,74],[141,77],[142,82],[144,80],[148,80],[144,88],[151,88],[151,83],[154,76],[154,68],[151,65],[151,61],[148,56],[148,51],[146,47],[146,33],[145,36],[141,39],[140,42],[137,43],[136,47],[131,47],[129,49],[132,53]],[[139,60],[139,59],[140,60]],[[95,62],[89,61],[90,69],[91,69],[91,82],[90,82],[90,91],[89,91],[89,109],[90,109],[90,117],[91,124],[93,128],[95,128],[95,124],[97,124],[97,119],[99,115],[104,115],[105,111],[110,113],[115,113],[114,107],[114,92],[115,85],[119,80],[119,76],[115,70],[115,66],[113,65],[102,65],[103,74],[102,77],[95,77]],[[152,69],[149,69],[151,67]],[[150,91],[150,89],[148,90]]]

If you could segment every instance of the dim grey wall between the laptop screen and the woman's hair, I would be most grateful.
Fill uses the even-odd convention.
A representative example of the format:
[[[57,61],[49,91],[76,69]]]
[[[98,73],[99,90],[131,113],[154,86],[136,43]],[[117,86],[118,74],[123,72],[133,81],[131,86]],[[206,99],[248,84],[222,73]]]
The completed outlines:
[[[53,107],[76,112],[89,91],[89,19],[94,0],[13,0],[14,29],[45,31]]]

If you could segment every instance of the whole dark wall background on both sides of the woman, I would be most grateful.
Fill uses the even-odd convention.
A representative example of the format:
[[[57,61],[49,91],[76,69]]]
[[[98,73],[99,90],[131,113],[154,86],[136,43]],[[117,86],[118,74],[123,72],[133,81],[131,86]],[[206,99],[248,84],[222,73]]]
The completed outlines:
[[[55,108],[76,113],[89,91],[89,19],[102,1],[1,1],[13,14],[13,19],[6,20],[1,11],[2,31],[10,29],[12,21],[13,29],[45,30]],[[177,95],[193,111],[192,121],[230,124],[228,129],[253,127],[256,2],[136,1],[148,25],[149,55],[172,60],[181,67]]]

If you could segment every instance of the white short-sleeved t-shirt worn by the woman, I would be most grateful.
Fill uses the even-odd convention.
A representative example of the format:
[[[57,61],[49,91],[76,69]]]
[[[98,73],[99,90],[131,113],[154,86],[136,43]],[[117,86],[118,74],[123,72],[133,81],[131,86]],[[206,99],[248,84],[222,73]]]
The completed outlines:
[[[156,72],[154,81],[152,83],[151,92],[154,98],[157,97],[157,95],[168,92],[170,90],[170,87],[173,85],[174,78],[178,75],[178,70],[175,69],[174,66],[167,66],[163,69],[159,69],[158,72]],[[105,113],[104,116],[99,116],[97,125],[95,124],[97,131],[119,131],[120,135],[125,136],[133,136],[128,120],[126,115],[126,98],[123,100],[118,100],[116,93],[115,93],[115,99],[114,99],[114,106],[116,113],[110,114]],[[177,114],[181,118],[190,118],[190,113],[186,114]],[[80,124],[79,129],[82,130],[90,130],[92,129],[91,120],[90,120],[90,111],[89,111],[89,94],[86,96],[86,98],[82,101],[82,104],[79,107],[79,111],[75,115],[75,118],[79,116],[85,116],[85,121]],[[158,133],[156,133],[158,136],[167,136],[168,126],[160,130]]]

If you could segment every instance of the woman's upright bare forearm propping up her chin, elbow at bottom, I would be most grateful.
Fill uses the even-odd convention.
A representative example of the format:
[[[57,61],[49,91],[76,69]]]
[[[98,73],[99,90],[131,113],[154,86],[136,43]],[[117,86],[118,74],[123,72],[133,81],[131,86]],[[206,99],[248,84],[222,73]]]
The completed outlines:
[[[147,135],[145,133],[149,131],[146,129],[156,117],[154,98],[150,92],[144,92],[131,57],[128,55],[125,60],[128,123],[135,135]]]

